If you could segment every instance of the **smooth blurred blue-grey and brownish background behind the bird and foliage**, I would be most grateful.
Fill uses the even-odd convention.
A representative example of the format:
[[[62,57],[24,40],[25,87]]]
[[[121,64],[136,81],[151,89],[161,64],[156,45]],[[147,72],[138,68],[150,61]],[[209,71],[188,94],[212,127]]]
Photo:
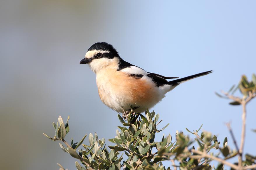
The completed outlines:
[[[95,74],[79,65],[95,42],[165,76],[214,73],[169,92],[155,110],[176,130],[202,129],[225,136],[226,122],[240,142],[241,106],[214,92],[229,90],[256,63],[256,1],[3,0],[0,5],[0,169],[76,169],[75,159],[43,136],[52,121],[70,115],[67,139],[97,132],[115,137],[117,113],[99,99]],[[248,104],[245,151],[253,155],[256,101]],[[162,134],[157,136],[161,139]],[[88,138],[85,139],[88,143]],[[109,144],[109,143],[107,143]]]

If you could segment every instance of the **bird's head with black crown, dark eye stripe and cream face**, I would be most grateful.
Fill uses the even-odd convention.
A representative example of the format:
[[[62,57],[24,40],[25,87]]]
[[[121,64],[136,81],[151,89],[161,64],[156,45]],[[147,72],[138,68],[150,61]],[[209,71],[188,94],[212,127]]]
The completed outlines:
[[[85,54],[85,58],[80,64],[88,64],[92,71],[97,73],[108,67],[118,68],[120,56],[116,49],[106,42],[97,42],[93,44]]]

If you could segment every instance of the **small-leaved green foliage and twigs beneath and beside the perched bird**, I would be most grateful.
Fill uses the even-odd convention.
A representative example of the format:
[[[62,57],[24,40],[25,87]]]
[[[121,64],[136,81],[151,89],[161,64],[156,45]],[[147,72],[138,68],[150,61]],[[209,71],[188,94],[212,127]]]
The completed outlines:
[[[234,96],[239,89],[242,97]],[[106,146],[105,139],[98,139],[97,134],[88,135],[89,142],[84,143],[85,135],[80,142],[66,141],[66,134],[69,133],[68,120],[64,123],[59,116],[57,123],[53,123],[55,129],[54,137],[46,137],[53,141],[61,141],[60,148],[73,158],[77,159],[75,166],[78,170],[85,169],[147,169],[147,170],[169,170],[169,169],[256,169],[256,156],[243,152],[246,126],[246,105],[256,96],[256,76],[248,81],[242,76],[238,86],[233,86],[228,92],[222,92],[218,96],[232,100],[231,105],[242,105],[242,133],[240,146],[234,137],[229,123],[227,127],[232,139],[218,139],[210,132],[201,131],[201,126],[196,130],[188,130],[192,135],[184,135],[176,131],[175,135],[163,136],[161,141],[155,141],[155,135],[161,133],[166,126],[162,126],[159,114],[154,111],[145,111],[145,114],[134,113],[132,110],[121,116],[118,114],[121,126],[116,130],[116,136],[108,141],[112,146]],[[239,116],[239,115],[237,115]],[[255,130],[256,131],[256,130]],[[229,143],[233,142],[232,149]],[[217,150],[217,151],[216,151]],[[124,160],[123,154],[127,155]],[[230,163],[229,159],[237,157],[237,162]],[[170,165],[163,166],[163,161]],[[218,162],[215,167],[213,162]],[[165,165],[166,165],[165,164]],[[60,164],[59,170],[65,170]],[[216,165],[216,164],[215,164]],[[225,165],[225,166],[224,166]]]

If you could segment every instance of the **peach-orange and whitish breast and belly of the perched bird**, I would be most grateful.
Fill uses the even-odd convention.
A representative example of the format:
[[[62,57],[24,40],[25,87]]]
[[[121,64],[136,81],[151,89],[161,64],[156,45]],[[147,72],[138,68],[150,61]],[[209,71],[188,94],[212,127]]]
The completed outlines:
[[[123,112],[140,106],[136,112],[152,108],[164,98],[163,90],[155,86],[152,79],[143,76],[136,79],[116,69],[105,69],[97,73],[97,86],[101,101],[109,108]]]

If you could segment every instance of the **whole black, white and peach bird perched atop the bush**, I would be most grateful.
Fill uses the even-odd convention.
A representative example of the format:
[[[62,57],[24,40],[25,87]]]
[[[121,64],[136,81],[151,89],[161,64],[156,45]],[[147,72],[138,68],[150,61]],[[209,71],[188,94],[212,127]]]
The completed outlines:
[[[131,109],[136,113],[145,112],[181,83],[212,73],[210,70],[179,78],[147,72],[123,60],[117,50],[107,42],[93,44],[80,64],[88,64],[96,74],[101,101],[118,113]]]

